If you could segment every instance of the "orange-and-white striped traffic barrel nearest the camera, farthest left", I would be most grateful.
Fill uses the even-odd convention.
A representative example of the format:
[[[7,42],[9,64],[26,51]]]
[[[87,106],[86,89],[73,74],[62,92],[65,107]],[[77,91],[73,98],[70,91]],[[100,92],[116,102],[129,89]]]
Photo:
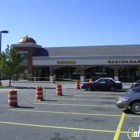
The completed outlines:
[[[17,91],[10,90],[8,93],[8,106],[18,107]]]

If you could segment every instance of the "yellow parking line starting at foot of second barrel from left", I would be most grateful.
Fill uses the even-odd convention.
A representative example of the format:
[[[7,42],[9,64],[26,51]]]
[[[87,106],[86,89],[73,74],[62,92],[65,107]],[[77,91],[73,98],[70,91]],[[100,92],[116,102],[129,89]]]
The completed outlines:
[[[34,102],[34,104],[46,104],[46,105],[62,105],[62,106],[85,106],[85,107],[89,107],[89,106],[91,106],[91,107],[102,107],[102,108],[104,108],[104,107],[110,107],[110,108],[113,108],[113,107],[115,107],[116,108],[116,106],[111,106],[111,105],[83,105],[83,104],[55,104],[55,103],[41,103],[41,102]]]

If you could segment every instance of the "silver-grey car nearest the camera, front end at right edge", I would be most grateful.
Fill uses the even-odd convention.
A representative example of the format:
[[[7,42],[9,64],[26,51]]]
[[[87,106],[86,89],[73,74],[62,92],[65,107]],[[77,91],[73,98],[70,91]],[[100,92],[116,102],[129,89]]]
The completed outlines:
[[[140,114],[140,92],[118,96],[116,106],[122,109],[130,108],[134,114]]]

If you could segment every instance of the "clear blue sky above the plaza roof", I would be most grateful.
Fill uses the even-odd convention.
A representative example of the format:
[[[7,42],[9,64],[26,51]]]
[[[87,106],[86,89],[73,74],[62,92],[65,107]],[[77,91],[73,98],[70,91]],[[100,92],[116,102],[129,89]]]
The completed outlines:
[[[0,0],[2,51],[28,35],[42,47],[140,44],[140,0]]]

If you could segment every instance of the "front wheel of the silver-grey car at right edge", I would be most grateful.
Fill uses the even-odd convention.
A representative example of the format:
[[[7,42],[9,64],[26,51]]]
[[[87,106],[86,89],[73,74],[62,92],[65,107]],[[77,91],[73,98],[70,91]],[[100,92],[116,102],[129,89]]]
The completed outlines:
[[[130,110],[134,114],[140,114],[140,102],[135,102],[130,106]]]

